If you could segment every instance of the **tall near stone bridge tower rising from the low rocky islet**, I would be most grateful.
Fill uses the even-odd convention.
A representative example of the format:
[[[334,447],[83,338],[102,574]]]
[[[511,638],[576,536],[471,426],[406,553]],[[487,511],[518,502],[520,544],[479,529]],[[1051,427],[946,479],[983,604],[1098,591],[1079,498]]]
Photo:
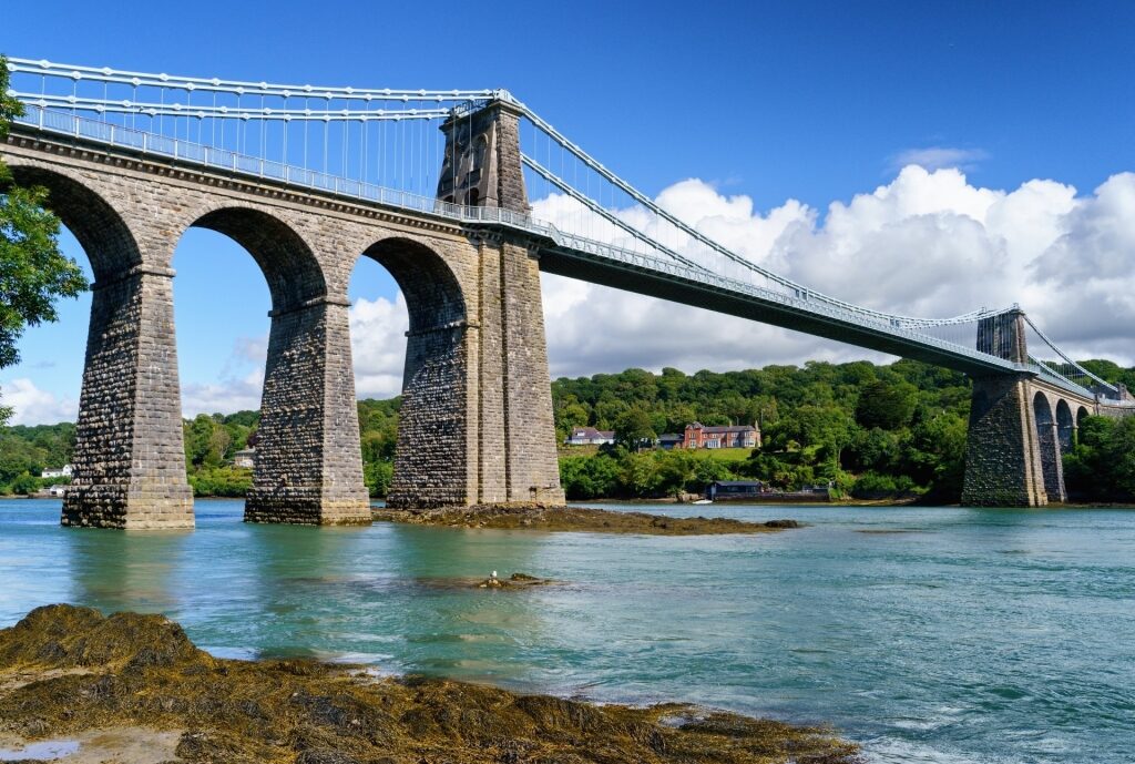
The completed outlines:
[[[506,99],[454,111],[442,125],[439,200],[528,213],[519,117]],[[464,319],[437,328],[411,320],[406,333],[387,503],[563,504],[536,252],[503,230],[468,241],[474,272],[462,287]],[[439,411],[451,422],[443,440],[436,437]],[[457,442],[460,451],[445,445]],[[436,486],[442,475],[454,477]]]

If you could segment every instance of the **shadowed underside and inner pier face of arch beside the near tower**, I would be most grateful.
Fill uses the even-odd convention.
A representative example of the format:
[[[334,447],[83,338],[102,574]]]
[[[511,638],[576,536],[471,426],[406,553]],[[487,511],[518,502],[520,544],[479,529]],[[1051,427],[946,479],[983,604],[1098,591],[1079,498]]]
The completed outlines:
[[[472,338],[461,283],[440,253],[405,237],[361,257],[389,271],[406,300],[410,330],[402,377],[392,506],[465,504],[470,493]]]

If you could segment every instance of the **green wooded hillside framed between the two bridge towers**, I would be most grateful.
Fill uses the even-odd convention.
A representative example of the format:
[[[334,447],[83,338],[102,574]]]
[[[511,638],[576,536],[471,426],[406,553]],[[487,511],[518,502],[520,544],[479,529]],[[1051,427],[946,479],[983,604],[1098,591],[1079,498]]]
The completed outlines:
[[[866,361],[686,375],[629,369],[561,378],[552,385],[557,437],[572,427],[614,429],[619,448],[594,456],[564,451],[569,498],[664,496],[700,492],[722,479],[757,478],[797,489],[832,482],[859,493],[926,493],[957,501],[965,468],[969,381],[915,361]],[[632,454],[636,436],[686,425],[759,423],[764,445],[748,459],[697,459],[681,452]],[[648,427],[649,422],[649,427]]]

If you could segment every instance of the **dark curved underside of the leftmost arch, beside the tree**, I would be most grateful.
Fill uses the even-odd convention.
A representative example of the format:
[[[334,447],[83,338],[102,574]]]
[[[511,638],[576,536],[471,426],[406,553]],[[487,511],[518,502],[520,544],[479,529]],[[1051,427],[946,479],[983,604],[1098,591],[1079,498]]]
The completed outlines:
[[[9,159],[12,180],[48,190],[47,208],[75,235],[91,262],[95,283],[109,282],[142,265],[142,252],[126,221],[102,195],[70,175]]]

